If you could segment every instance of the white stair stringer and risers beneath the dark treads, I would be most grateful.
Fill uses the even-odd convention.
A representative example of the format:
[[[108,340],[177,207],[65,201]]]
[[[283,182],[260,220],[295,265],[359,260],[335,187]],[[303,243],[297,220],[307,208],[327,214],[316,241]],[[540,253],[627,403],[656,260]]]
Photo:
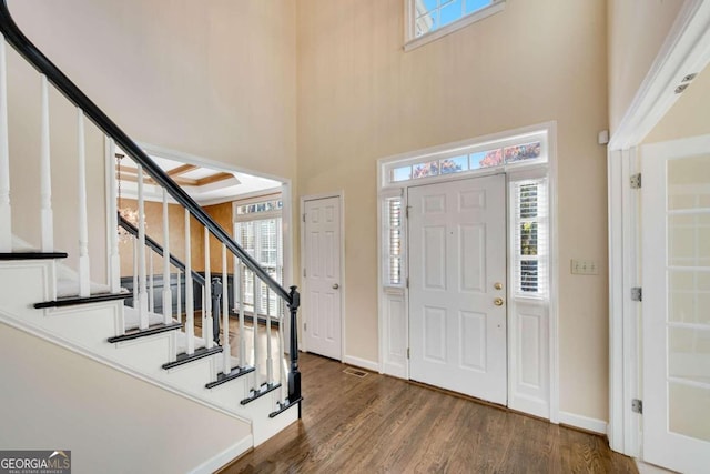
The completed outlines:
[[[247,405],[240,404],[248,394],[253,373],[205,389],[222,367],[222,354],[163,370],[163,363],[175,359],[175,331],[109,343],[108,337],[123,333],[122,301],[32,307],[55,294],[55,273],[52,260],[0,262],[0,321],[250,423],[254,445],[297,420],[297,406],[268,417],[276,409],[280,391]]]

